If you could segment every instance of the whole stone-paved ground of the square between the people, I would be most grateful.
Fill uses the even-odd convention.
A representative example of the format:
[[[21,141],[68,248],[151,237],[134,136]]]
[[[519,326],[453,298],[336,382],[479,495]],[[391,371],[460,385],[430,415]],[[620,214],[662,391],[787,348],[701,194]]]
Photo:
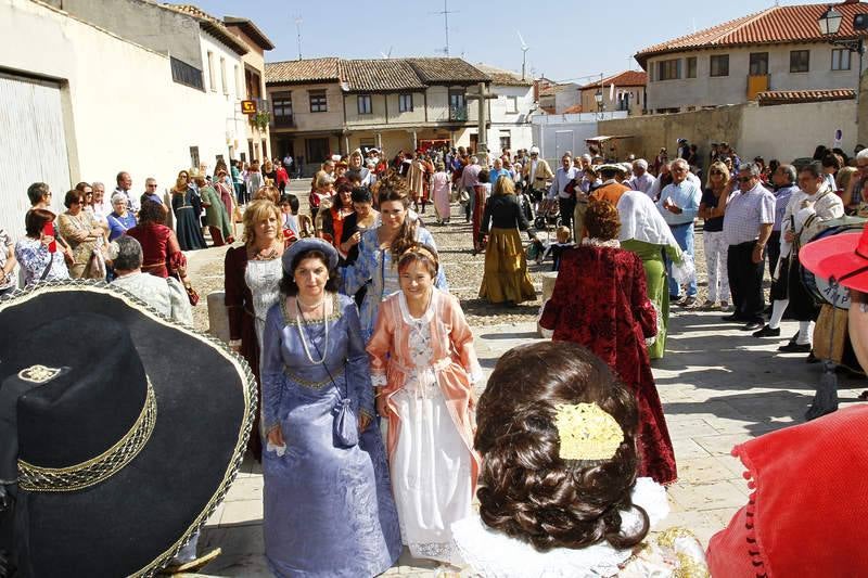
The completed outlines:
[[[456,206],[452,214],[452,222],[457,222]],[[469,226],[459,220],[457,226],[430,228],[444,255],[450,287],[461,298],[474,329],[476,351],[487,376],[505,351],[538,338],[534,320],[539,301],[507,309],[476,299],[483,256],[471,255]],[[697,245],[701,247],[699,239]],[[190,270],[203,296],[221,290],[225,253],[218,248],[191,256]],[[701,260],[700,255],[698,268],[704,279]],[[704,298],[702,287],[700,297]],[[201,329],[207,329],[204,304],[203,298],[196,308]],[[703,543],[748,500],[743,467],[729,453],[732,446],[801,423],[820,377],[819,364],[806,364],[804,356],[777,351],[786,337],[754,338],[740,326],[722,322],[719,314],[673,308],[666,357],[653,363],[679,473],[678,481],[668,488],[672,513],[656,529],[682,526],[693,530]],[[781,335],[790,336],[796,330],[796,323],[784,322]],[[842,407],[857,402],[858,394],[866,388],[865,381],[843,375],[839,375],[839,384]],[[255,463],[245,462],[209,519],[200,544],[220,547],[222,554],[204,574],[269,576],[263,556],[260,472]],[[386,575],[437,574],[434,564],[413,560],[405,551]]]

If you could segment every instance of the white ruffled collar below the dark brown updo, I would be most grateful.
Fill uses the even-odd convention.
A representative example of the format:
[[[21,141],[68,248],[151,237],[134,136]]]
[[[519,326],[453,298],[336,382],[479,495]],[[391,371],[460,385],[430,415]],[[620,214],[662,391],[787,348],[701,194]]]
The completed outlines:
[[[636,480],[633,502],[648,512],[652,527],[669,513],[666,490],[651,478]],[[640,524],[635,511],[622,512],[622,519],[624,525]],[[616,550],[608,543],[582,550],[559,548],[539,552],[527,542],[492,530],[477,514],[456,522],[451,528],[452,540],[461,556],[473,568],[473,576],[485,578],[616,576],[618,565],[633,555],[631,550]]]

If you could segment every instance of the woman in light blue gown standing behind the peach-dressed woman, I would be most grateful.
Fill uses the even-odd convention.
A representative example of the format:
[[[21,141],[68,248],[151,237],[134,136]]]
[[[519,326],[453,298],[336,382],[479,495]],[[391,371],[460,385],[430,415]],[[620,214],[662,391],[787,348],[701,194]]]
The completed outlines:
[[[416,243],[423,243],[435,251],[437,248],[434,236],[420,226],[419,217],[409,210],[410,197],[404,179],[383,181],[378,197],[380,224],[362,233],[356,262],[344,269],[342,292],[344,295],[355,295],[368,284],[359,311],[361,337],[366,344],[373,335],[380,301],[400,291],[398,270],[393,266],[393,261],[397,262],[396,255],[403,255]],[[434,285],[438,290],[449,291],[443,267],[437,271]]]

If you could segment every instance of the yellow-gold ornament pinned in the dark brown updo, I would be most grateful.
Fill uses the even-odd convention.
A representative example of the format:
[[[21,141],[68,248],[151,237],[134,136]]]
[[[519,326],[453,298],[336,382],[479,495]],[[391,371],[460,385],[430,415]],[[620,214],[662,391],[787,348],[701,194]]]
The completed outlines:
[[[611,460],[624,441],[624,431],[597,403],[557,407],[554,426],[561,438],[562,460]]]

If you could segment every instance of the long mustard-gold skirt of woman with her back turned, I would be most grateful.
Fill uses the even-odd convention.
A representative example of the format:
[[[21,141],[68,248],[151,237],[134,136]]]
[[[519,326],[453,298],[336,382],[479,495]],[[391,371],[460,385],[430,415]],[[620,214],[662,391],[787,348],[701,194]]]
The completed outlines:
[[[485,274],[482,278],[480,297],[488,303],[536,299],[519,229],[493,228],[488,232]]]

